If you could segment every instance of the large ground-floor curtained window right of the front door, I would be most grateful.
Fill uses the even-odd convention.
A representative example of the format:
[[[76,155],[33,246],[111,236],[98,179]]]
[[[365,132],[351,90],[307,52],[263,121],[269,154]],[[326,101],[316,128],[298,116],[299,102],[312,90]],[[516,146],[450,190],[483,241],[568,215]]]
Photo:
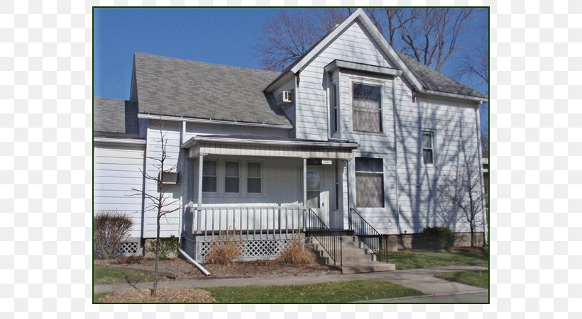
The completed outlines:
[[[381,158],[356,157],[356,206],[384,207],[384,169]]]

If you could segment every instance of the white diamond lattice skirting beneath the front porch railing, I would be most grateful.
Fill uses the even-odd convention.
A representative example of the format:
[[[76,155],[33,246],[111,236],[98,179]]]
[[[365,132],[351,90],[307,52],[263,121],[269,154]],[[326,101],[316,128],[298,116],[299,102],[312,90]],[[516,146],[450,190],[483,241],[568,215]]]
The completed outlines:
[[[236,242],[241,257],[238,260],[269,259],[281,254],[292,241],[292,238],[272,238],[260,240],[233,240]],[[219,242],[196,242],[197,262],[205,262],[213,245]]]

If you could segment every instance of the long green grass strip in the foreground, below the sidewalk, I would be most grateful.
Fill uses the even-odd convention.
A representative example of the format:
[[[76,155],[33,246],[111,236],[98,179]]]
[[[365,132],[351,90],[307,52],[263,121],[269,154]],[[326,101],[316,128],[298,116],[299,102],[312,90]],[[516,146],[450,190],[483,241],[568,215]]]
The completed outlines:
[[[219,303],[348,303],[419,296],[420,291],[379,280],[328,282],[296,286],[205,288]]]

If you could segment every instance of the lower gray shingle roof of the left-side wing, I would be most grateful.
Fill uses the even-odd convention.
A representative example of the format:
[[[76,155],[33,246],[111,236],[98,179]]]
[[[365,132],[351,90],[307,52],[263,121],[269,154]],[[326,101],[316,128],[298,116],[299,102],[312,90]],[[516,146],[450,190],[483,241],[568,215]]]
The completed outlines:
[[[136,103],[96,97],[93,106],[94,135],[136,137],[139,134]]]

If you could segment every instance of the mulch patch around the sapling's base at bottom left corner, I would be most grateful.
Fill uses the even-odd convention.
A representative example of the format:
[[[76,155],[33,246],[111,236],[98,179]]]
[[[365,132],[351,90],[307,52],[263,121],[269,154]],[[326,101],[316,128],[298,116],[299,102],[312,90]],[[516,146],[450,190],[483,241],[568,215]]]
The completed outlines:
[[[212,295],[202,289],[158,288],[155,297],[150,289],[118,291],[102,296],[99,303],[215,303]]]

